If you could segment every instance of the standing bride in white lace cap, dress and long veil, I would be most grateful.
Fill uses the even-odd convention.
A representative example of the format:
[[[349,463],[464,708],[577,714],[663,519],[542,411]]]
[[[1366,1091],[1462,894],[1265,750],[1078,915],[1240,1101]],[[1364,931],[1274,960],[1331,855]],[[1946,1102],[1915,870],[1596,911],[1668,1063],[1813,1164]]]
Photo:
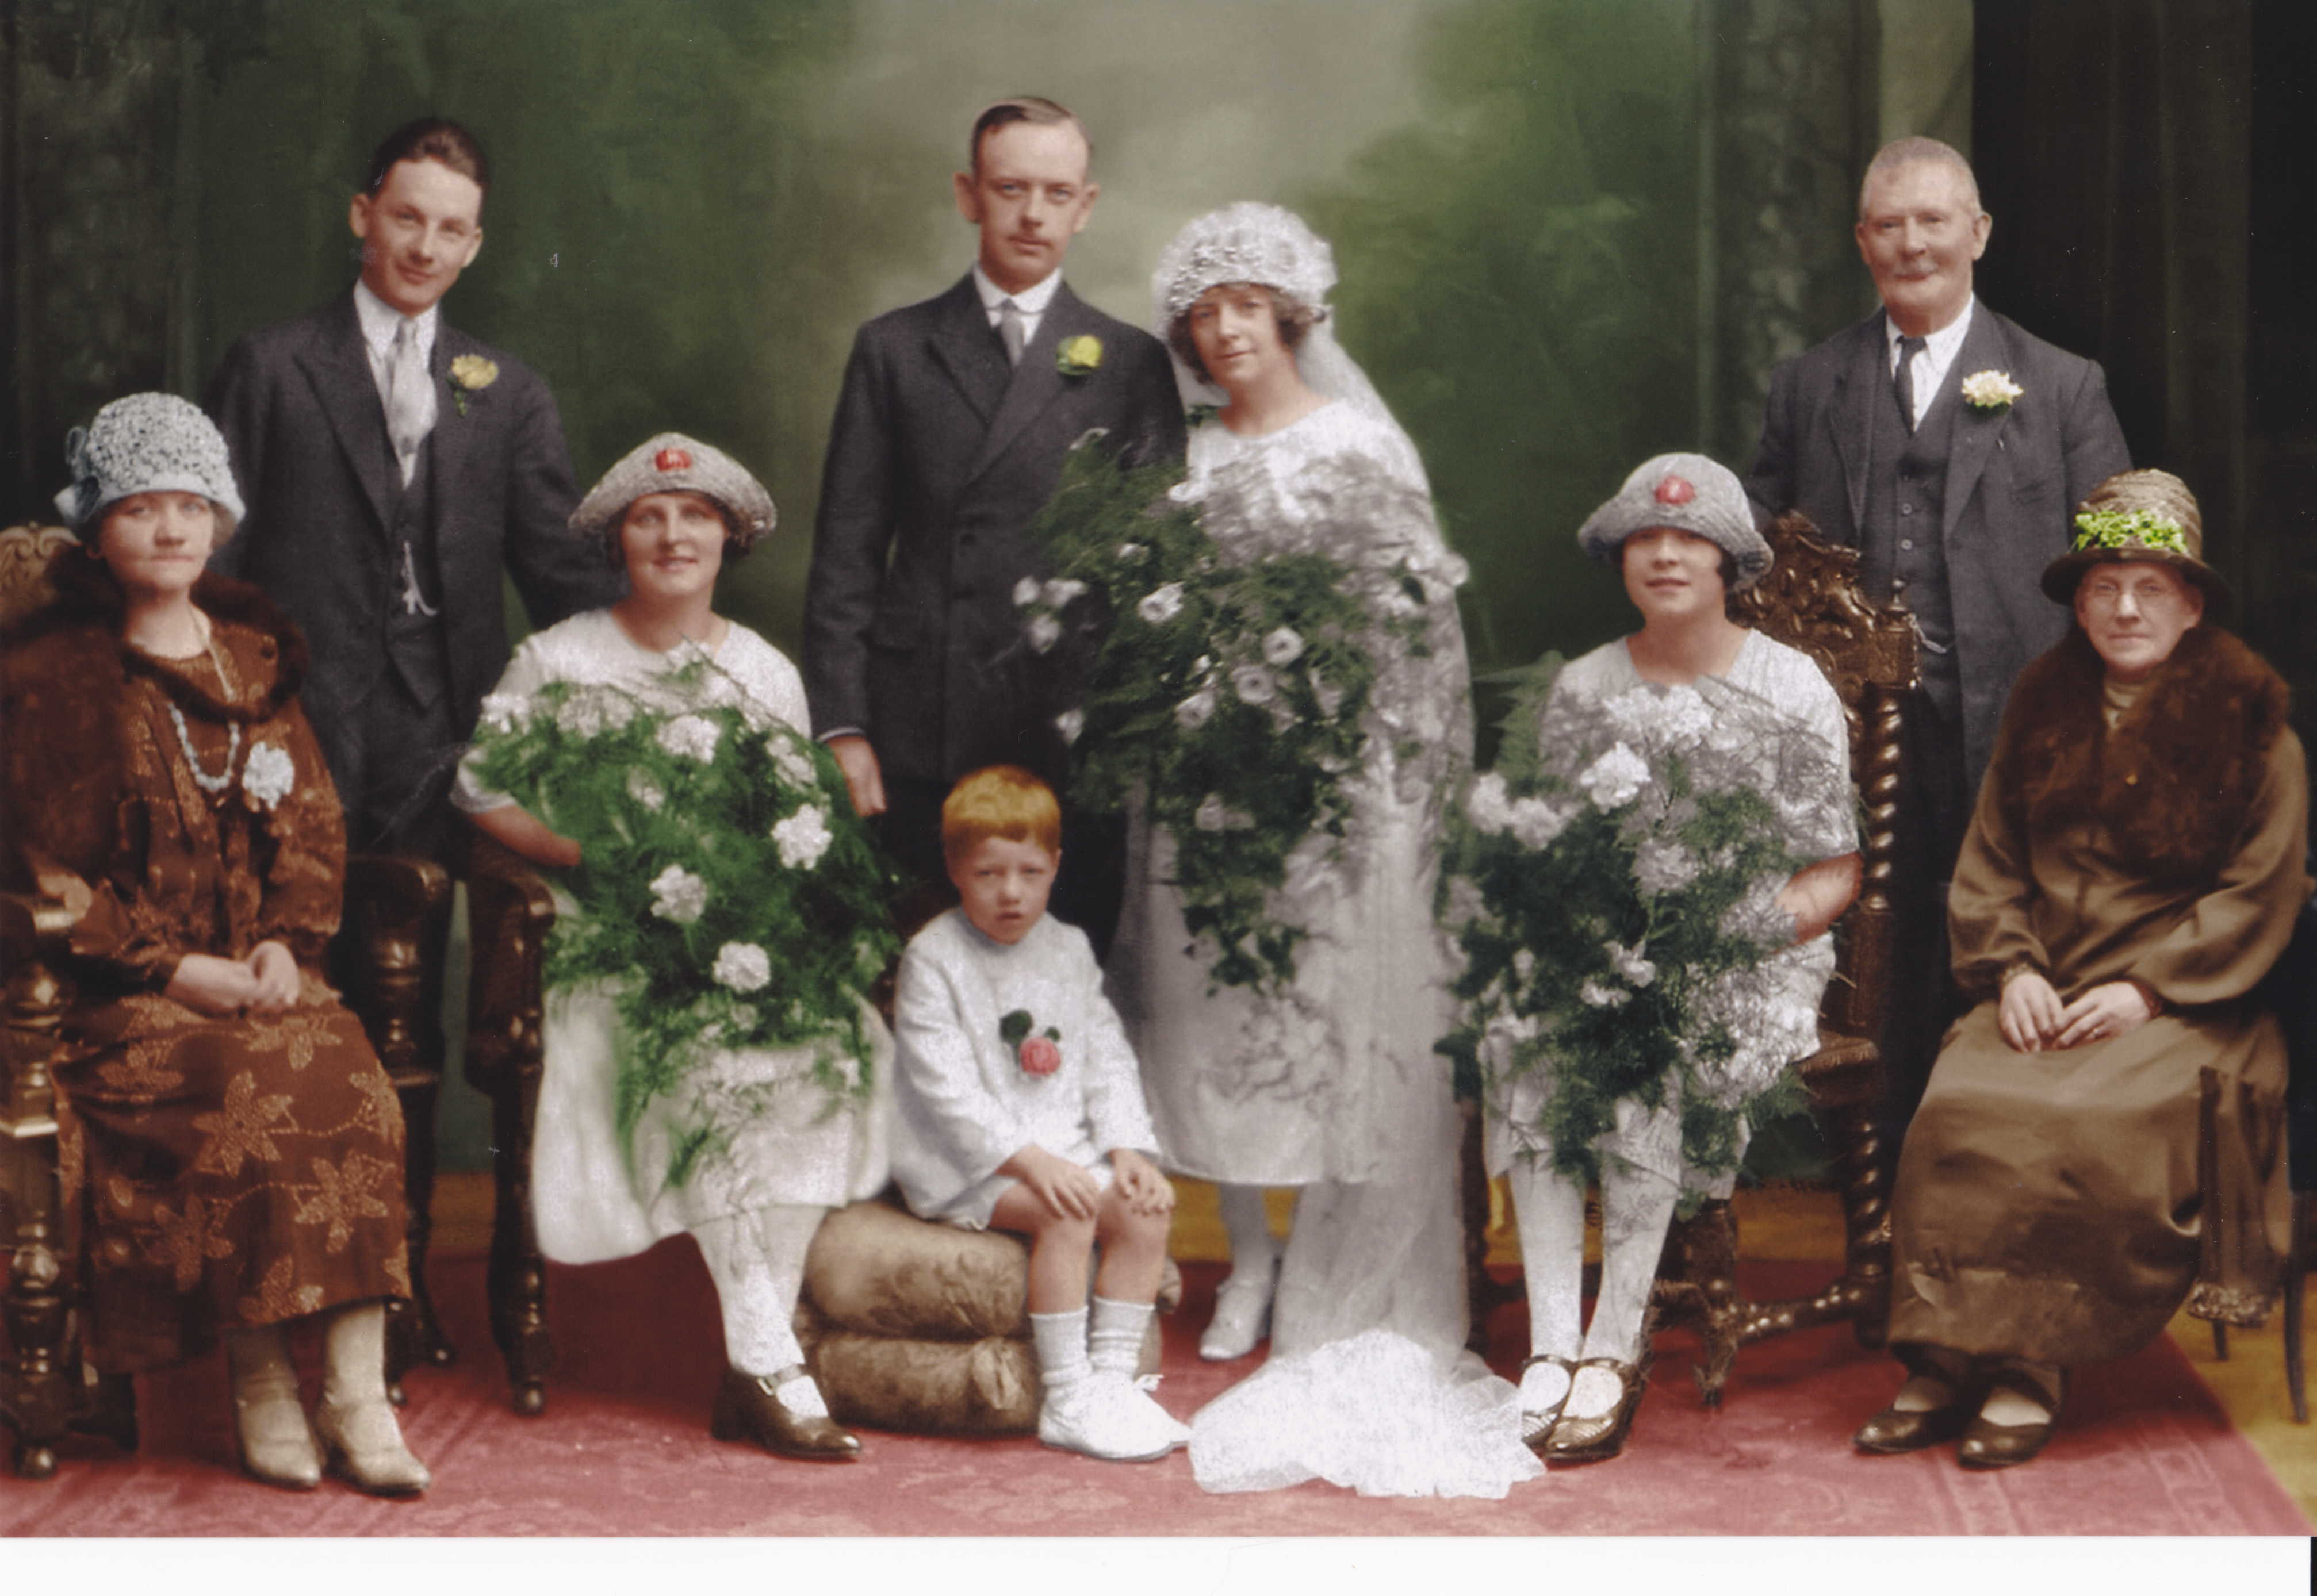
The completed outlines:
[[[1284,991],[1209,991],[1175,845],[1135,827],[1110,957],[1168,1165],[1221,1186],[1233,1274],[1207,1357],[1270,1360],[1191,1425],[1205,1489],[1325,1478],[1362,1494],[1501,1496],[1538,1473],[1513,1388],[1464,1350],[1441,813],[1471,757],[1455,586],[1423,463],[1328,327],[1335,262],[1302,220],[1235,204],[1168,246],[1152,290],[1177,359],[1221,389],[1179,498],[1226,556],[1321,551],[1413,572],[1369,639],[1376,688],[1344,839],[1311,836],[1274,913],[1309,931]],[[1395,574],[1397,581],[1397,574]],[[1388,586],[1388,584],[1379,584]],[[1270,1232],[1267,1186],[1298,1188]]]

